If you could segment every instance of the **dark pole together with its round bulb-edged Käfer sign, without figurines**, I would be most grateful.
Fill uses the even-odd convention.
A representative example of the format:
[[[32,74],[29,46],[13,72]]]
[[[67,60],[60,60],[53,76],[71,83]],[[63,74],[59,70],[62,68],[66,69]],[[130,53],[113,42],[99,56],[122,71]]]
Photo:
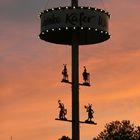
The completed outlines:
[[[78,0],[71,0],[71,6],[44,10],[40,18],[40,39],[72,48],[72,140],[80,140],[79,45],[108,40],[110,14],[103,9],[79,7]]]

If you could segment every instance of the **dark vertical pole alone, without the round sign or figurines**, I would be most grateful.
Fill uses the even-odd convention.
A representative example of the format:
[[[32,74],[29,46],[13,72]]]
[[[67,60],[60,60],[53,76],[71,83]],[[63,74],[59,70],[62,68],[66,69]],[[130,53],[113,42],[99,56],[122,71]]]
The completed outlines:
[[[78,6],[78,0],[72,0]],[[78,34],[72,34],[72,140],[80,140],[79,128],[79,45]]]

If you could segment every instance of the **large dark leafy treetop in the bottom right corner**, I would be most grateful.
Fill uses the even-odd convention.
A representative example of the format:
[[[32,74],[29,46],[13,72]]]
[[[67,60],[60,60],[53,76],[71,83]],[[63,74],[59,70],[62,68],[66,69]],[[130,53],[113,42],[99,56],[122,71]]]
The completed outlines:
[[[113,121],[93,140],[140,140],[140,126],[134,126],[129,120]]]

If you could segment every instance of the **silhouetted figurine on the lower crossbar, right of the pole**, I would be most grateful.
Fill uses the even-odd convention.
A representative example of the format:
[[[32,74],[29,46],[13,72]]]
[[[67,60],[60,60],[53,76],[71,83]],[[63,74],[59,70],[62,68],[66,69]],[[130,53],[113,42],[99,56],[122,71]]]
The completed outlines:
[[[88,106],[85,106],[86,112],[88,112],[88,119],[85,120],[85,122],[93,122],[92,118],[93,118],[93,109],[92,109],[92,104],[88,104]]]

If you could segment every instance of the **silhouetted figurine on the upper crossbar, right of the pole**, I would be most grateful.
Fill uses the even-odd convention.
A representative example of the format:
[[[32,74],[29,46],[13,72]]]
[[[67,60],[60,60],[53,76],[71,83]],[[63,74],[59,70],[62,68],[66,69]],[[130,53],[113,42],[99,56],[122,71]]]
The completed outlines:
[[[84,80],[83,84],[86,86],[90,86],[90,77],[89,77],[90,74],[87,73],[87,69],[85,66],[84,66],[84,72],[82,75],[83,75],[83,80]]]

